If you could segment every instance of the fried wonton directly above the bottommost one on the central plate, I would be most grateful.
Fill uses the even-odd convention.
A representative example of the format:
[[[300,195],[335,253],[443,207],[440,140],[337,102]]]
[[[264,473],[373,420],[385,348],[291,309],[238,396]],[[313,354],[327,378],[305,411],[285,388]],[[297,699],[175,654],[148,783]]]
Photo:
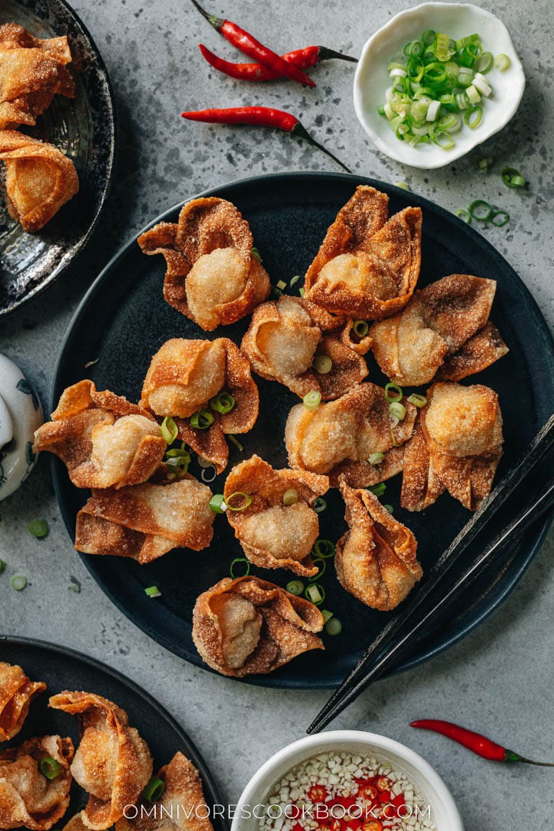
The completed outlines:
[[[319,519],[313,504],[328,489],[326,476],[274,470],[257,455],[233,467],[223,489],[225,499],[233,504],[232,494],[247,494],[252,502],[226,514],[248,559],[261,568],[288,568],[302,577],[316,574],[310,552],[319,536]],[[296,501],[284,504],[285,494]]]

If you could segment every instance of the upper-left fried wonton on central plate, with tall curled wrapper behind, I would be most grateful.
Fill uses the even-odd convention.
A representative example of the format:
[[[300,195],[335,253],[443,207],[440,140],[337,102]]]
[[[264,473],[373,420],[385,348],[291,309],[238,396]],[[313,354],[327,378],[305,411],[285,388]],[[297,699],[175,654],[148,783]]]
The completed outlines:
[[[240,320],[269,294],[250,226],[226,199],[193,199],[178,224],[154,225],[138,242],[145,254],[164,255],[165,299],[205,332]]]

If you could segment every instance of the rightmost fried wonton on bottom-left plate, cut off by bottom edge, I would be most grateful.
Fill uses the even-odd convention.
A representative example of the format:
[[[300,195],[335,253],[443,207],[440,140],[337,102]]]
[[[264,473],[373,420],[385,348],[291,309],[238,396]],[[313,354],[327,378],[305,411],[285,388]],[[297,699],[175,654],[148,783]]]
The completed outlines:
[[[154,803],[140,799],[136,818],[121,817],[115,824],[115,831],[212,831],[208,819],[210,809],[204,798],[200,774],[193,763],[177,752],[157,775],[164,782],[164,793]],[[134,813],[129,812],[129,815]]]

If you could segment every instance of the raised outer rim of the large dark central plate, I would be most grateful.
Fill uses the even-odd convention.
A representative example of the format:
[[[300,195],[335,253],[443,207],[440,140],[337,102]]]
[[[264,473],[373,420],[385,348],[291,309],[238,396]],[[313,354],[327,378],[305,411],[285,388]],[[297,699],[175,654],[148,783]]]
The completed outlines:
[[[168,209],[165,209],[159,216],[153,219],[150,223],[146,224],[143,229],[141,229],[135,236],[129,238],[114,254],[110,261],[106,263],[105,267],[102,268],[101,272],[98,274],[96,279],[91,283],[91,286],[87,289],[86,294],[82,298],[81,302],[76,308],[76,311],[73,313],[71,320],[67,326],[66,332],[64,334],[63,340],[61,342],[60,351],[56,358],[56,365],[54,367],[54,373],[52,376],[51,381],[51,388],[50,388],[50,396],[49,396],[49,406],[50,411],[53,411],[56,405],[57,398],[60,395],[58,384],[58,378],[61,375],[62,371],[62,358],[66,353],[67,343],[71,338],[71,334],[76,328],[76,326],[81,322],[81,318],[86,313],[86,308],[88,303],[91,301],[93,297],[96,296],[96,293],[101,290],[105,279],[109,278],[110,272],[113,268],[115,268],[119,263],[120,260],[125,258],[125,255],[128,251],[136,244],[137,238],[140,234],[144,234],[145,231],[152,228],[153,225],[167,221],[167,218],[174,214],[175,211],[179,210],[184,204],[189,202],[191,199],[199,199],[204,198],[206,196],[216,195],[223,189],[228,189],[229,187],[243,187],[243,186],[252,186],[253,184],[260,184],[260,183],[268,183],[270,181],[282,181],[283,179],[335,179],[336,181],[346,181],[346,180],[355,180],[355,186],[358,184],[370,184],[376,188],[385,188],[386,191],[392,191],[396,195],[398,195],[402,199],[406,199],[406,191],[405,189],[401,189],[396,187],[394,184],[389,184],[388,182],[384,182],[380,179],[372,179],[368,176],[360,176],[355,174],[348,174],[348,173],[341,173],[338,171],[328,171],[328,170],[284,170],[281,172],[273,172],[269,174],[262,174],[262,175],[254,175],[254,176],[247,176],[241,179],[231,179],[228,182],[218,184],[213,188],[205,189],[197,194],[191,195],[184,200],[179,201],[176,204],[173,204]],[[503,268],[508,268],[515,278],[517,278],[518,283],[521,285],[522,289],[522,296],[525,297],[527,302],[527,307],[529,312],[535,319],[537,323],[537,330],[542,335],[547,347],[550,349],[550,361],[549,366],[552,371],[552,376],[554,377],[554,337],[552,336],[552,332],[547,325],[545,317],[543,316],[541,309],[533,297],[529,288],[527,288],[526,283],[522,280],[521,277],[517,274],[515,269],[512,267],[510,263],[507,262],[507,259],[503,257],[503,255],[494,248],[492,243],[489,243],[488,239],[483,237],[482,234],[479,234],[478,231],[473,229],[470,225],[463,222],[462,219],[458,219],[455,214],[451,213],[448,209],[444,208],[442,205],[439,205],[433,202],[431,199],[428,199],[425,196],[420,194],[414,193],[409,191],[409,194],[414,197],[415,204],[419,204],[422,209],[430,209],[435,214],[439,214],[442,219],[445,221],[453,224],[458,229],[463,230],[465,234],[468,234],[468,237],[473,241],[473,243],[477,244],[480,248],[482,248],[489,257],[493,258],[496,262],[501,263]],[[72,526],[69,522],[69,519],[66,517],[66,511],[63,509],[63,502],[61,499],[61,479],[60,474],[63,468],[62,465],[56,465],[58,460],[56,457],[52,456],[51,458],[51,476],[54,484],[54,491],[56,494],[56,500],[58,503],[58,507],[60,509],[61,517],[66,525],[66,530],[69,535],[70,541],[73,539],[73,531]],[[537,556],[537,553],[542,548],[542,544],[547,537],[548,531],[552,524],[552,520],[554,519],[554,509],[552,510],[551,514],[547,514],[545,518],[541,520],[542,528],[537,535],[537,539],[534,543],[529,547],[527,553],[522,558],[521,563],[518,564],[518,567],[515,569],[514,573],[511,575],[510,579],[507,581],[506,586],[503,588],[503,591],[499,593],[498,597],[495,598],[494,602],[490,605],[490,607],[486,608],[481,612],[474,620],[468,622],[465,626],[463,626],[458,632],[455,634],[451,634],[447,637],[444,642],[439,643],[438,645],[430,648],[425,648],[424,651],[419,654],[416,658],[408,661],[403,661],[400,666],[395,666],[393,670],[385,677],[395,676],[398,675],[400,672],[408,671],[409,669],[414,669],[414,667],[419,666],[420,664],[431,660],[435,656],[441,654],[442,652],[446,652],[450,647],[453,647],[456,643],[461,641],[463,637],[466,637],[470,632],[473,632],[478,626],[480,626],[485,620],[487,620],[490,615],[495,612],[499,606],[502,605],[504,601],[507,600],[507,597],[513,592],[513,590],[517,587],[517,584],[523,577],[524,573],[530,567],[533,559]],[[537,521],[538,524],[538,521]],[[83,554],[81,552],[77,552],[81,558],[81,562],[84,563],[86,570],[91,574],[91,577],[94,579],[95,583],[101,591],[105,593],[107,597],[110,598],[110,601],[114,603],[115,607],[122,612],[125,617],[127,617],[136,627],[138,627],[142,632],[145,632],[148,637],[150,637],[154,642],[159,643],[162,647],[167,649],[173,655],[178,656],[181,660],[186,661],[188,663],[192,663],[194,666],[199,666],[200,669],[205,671],[211,672],[215,675],[219,675],[218,672],[214,671],[210,667],[208,667],[200,656],[198,656],[198,661],[195,660],[196,656],[191,657],[184,657],[179,652],[174,652],[174,645],[171,644],[168,640],[166,640],[157,630],[155,627],[151,627],[148,623],[143,622],[140,620],[140,617],[136,615],[134,612],[128,611],[122,602],[120,602],[119,596],[113,592],[109,586],[105,584],[104,581],[101,581],[97,578],[96,573],[94,573],[92,566],[91,566],[91,559],[90,555]],[[269,674],[267,676],[246,676],[244,678],[236,679],[238,681],[242,681],[243,683],[250,684],[252,686],[265,686],[271,687],[274,689],[311,689],[311,690],[322,690],[322,689],[333,689],[336,686],[335,681],[331,680],[320,680],[320,679],[313,679],[310,678],[309,680],[294,680],[294,679],[287,679],[281,678],[280,676],[274,676]]]

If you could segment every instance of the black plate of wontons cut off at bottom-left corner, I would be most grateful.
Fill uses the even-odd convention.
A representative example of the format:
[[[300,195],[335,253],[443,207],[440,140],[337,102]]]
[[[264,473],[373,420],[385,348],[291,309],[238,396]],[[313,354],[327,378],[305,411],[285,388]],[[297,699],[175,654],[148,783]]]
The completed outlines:
[[[32,702],[21,732],[5,746],[19,745],[31,736],[45,733],[71,736],[77,746],[76,718],[48,708],[48,698],[63,690],[96,692],[128,713],[130,725],[139,730],[150,747],[154,773],[181,750],[199,770],[208,807],[222,804],[212,774],[189,736],[154,698],[129,678],[81,652],[22,637],[0,636],[0,661],[22,666],[32,681],[44,681],[47,685],[47,690]],[[74,783],[65,822],[85,803],[85,792]],[[228,831],[227,823],[217,812],[212,821],[215,831]]]

